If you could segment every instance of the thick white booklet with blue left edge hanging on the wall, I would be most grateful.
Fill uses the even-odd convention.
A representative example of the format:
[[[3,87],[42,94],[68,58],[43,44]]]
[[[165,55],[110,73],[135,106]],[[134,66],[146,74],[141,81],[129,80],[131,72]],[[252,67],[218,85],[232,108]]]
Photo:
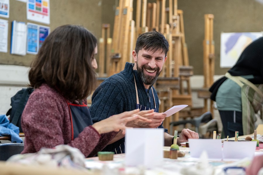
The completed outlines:
[[[25,22],[12,22],[10,53],[25,55],[27,51],[27,25]]]

